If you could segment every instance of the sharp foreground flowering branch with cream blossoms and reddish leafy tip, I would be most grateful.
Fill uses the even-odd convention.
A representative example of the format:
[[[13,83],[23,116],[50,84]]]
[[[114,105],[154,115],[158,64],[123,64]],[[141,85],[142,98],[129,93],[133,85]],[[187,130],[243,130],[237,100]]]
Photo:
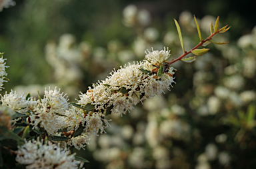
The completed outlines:
[[[129,17],[129,15],[127,15]],[[195,17],[194,17],[195,18]],[[126,24],[130,22],[128,19]],[[147,98],[159,96],[165,88],[170,90],[174,81],[175,69],[171,64],[176,61],[192,63],[195,57],[187,57],[189,53],[201,56],[209,49],[198,49],[209,43],[216,43],[212,37],[225,33],[229,27],[219,29],[219,17],[211,23],[211,35],[202,39],[201,31],[195,18],[199,35],[199,44],[190,51],[185,51],[179,23],[175,20],[183,55],[168,61],[171,56],[169,49],[162,51],[145,51],[145,60],[128,64],[114,70],[104,81],[99,81],[89,87],[87,92],[79,95],[77,102],[69,103],[66,94],[57,90],[45,88],[43,98],[31,97],[30,94],[17,94],[11,90],[1,96],[1,140],[11,140],[11,148],[3,145],[8,152],[5,158],[13,158],[25,168],[80,168],[84,158],[73,154],[73,147],[80,150],[90,143],[90,139],[105,132],[111,126],[111,120],[105,119],[109,114],[126,114],[133,106]],[[129,25],[129,24],[128,24]],[[2,55],[2,54],[1,54]],[[5,73],[5,62],[1,58],[1,80]],[[1,83],[3,86],[3,83]],[[212,102],[216,102],[214,99]],[[215,110],[213,110],[215,111]],[[164,124],[163,128],[168,126]],[[172,124],[172,122],[170,123]],[[174,123],[174,125],[176,125]],[[179,125],[179,124],[177,124]],[[172,128],[172,126],[168,126]],[[175,128],[175,126],[174,126]],[[6,144],[6,142],[5,142]],[[13,145],[14,144],[14,145]],[[18,150],[17,150],[18,148]],[[10,157],[11,156],[11,157]],[[4,160],[5,161],[5,160]],[[78,161],[81,161],[78,162]],[[1,164],[10,167],[19,164]]]

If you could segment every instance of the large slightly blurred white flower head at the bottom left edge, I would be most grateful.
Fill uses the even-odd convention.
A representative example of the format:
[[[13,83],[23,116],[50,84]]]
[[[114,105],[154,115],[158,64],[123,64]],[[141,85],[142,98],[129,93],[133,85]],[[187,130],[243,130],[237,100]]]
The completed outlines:
[[[61,149],[57,144],[43,144],[39,140],[25,140],[23,146],[18,146],[16,161],[32,168],[77,168],[80,162],[75,160],[75,154],[69,155],[69,150]]]

